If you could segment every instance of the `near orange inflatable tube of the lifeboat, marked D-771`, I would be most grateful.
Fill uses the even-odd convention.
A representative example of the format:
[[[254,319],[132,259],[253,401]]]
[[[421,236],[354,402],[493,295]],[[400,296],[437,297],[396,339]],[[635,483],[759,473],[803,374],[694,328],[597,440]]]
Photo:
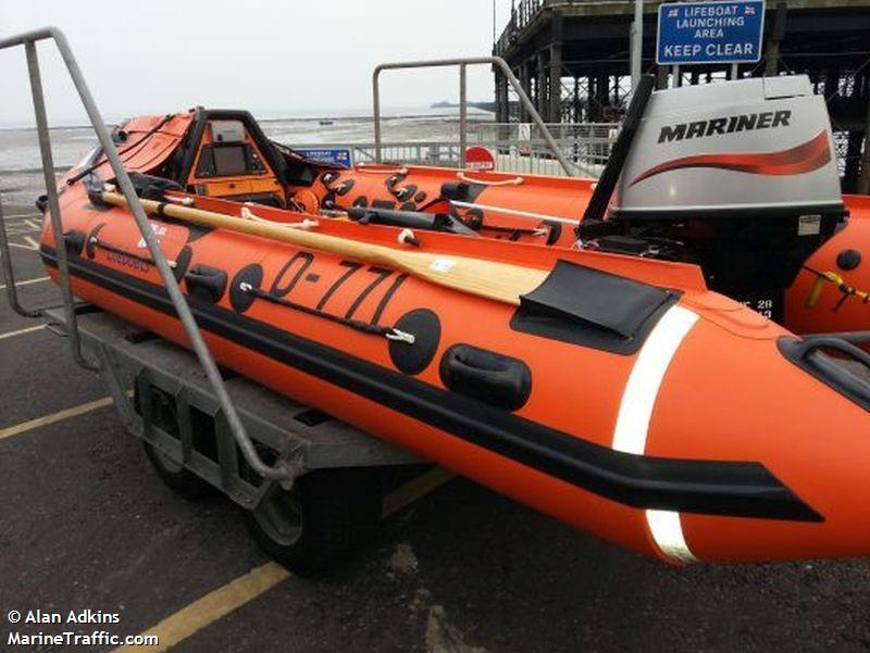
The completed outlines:
[[[62,200],[64,231],[82,234],[66,242],[75,293],[188,344],[132,216],[94,206],[80,187]],[[399,247],[391,227],[321,224]],[[424,250],[447,256],[521,261],[551,277],[561,266],[572,280],[562,294],[588,274],[621,273],[601,280],[666,298],[635,342],[611,347],[577,340],[588,336],[580,323],[555,336],[522,306],[397,269],[176,221],[152,228],[221,364],[517,501],[670,563],[870,550],[870,528],[841,491],[865,489],[862,472],[844,469],[870,453],[867,411],[786,360],[776,343],[788,334],[704,289],[693,266],[421,235]],[[55,247],[47,226],[52,275]],[[225,282],[213,291],[203,276]],[[820,470],[830,419],[843,448]]]

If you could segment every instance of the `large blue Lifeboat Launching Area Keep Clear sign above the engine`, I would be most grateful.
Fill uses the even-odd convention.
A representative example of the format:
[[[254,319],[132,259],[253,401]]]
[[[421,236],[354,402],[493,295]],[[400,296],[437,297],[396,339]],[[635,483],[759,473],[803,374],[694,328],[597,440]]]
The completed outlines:
[[[763,32],[763,0],[661,4],[656,63],[754,63]]]

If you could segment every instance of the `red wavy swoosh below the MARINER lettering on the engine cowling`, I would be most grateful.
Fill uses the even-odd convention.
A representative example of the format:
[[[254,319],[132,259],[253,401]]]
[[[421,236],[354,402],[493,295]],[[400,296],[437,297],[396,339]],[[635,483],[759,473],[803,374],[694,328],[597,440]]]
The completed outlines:
[[[828,134],[818,136],[790,150],[767,154],[698,154],[683,156],[649,168],[639,175],[632,186],[661,173],[687,167],[716,167],[720,169],[748,173],[750,175],[801,175],[819,169],[831,161],[831,147]]]

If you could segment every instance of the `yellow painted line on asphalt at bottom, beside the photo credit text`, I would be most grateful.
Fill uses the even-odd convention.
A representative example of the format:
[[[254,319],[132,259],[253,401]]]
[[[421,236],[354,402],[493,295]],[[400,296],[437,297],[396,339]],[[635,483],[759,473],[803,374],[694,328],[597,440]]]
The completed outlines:
[[[221,617],[249,603],[263,592],[271,590],[290,573],[277,563],[266,563],[239,576],[227,585],[209,592],[152,626],[142,635],[156,635],[160,642],[157,646],[119,646],[115,652],[128,653],[142,651],[158,653],[169,651],[175,644],[199,632]]]

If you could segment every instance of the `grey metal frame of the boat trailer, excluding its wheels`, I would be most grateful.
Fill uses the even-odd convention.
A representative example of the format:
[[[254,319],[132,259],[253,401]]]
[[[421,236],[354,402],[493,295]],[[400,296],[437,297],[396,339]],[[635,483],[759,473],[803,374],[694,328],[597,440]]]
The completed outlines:
[[[48,309],[45,316],[63,321],[60,307]],[[82,344],[85,352],[97,357],[99,375],[109,387],[122,414],[127,431],[170,460],[219,488],[232,501],[253,508],[270,488],[285,482],[264,479],[256,482],[252,468],[241,464],[225,413],[213,389],[198,372],[194,354],[158,337],[144,337],[137,325],[104,312],[79,316]],[[245,377],[227,381],[227,388],[247,432],[257,443],[294,470],[298,478],[315,469],[336,467],[372,467],[426,464],[413,453],[378,440],[364,431],[340,422],[325,418],[308,423],[300,416],[311,409]],[[130,395],[138,394],[138,412]],[[160,392],[175,409],[177,432],[157,418],[154,394]],[[194,412],[211,420],[212,434],[199,431]],[[200,438],[198,436],[207,436]],[[207,451],[207,443],[214,450]]]

